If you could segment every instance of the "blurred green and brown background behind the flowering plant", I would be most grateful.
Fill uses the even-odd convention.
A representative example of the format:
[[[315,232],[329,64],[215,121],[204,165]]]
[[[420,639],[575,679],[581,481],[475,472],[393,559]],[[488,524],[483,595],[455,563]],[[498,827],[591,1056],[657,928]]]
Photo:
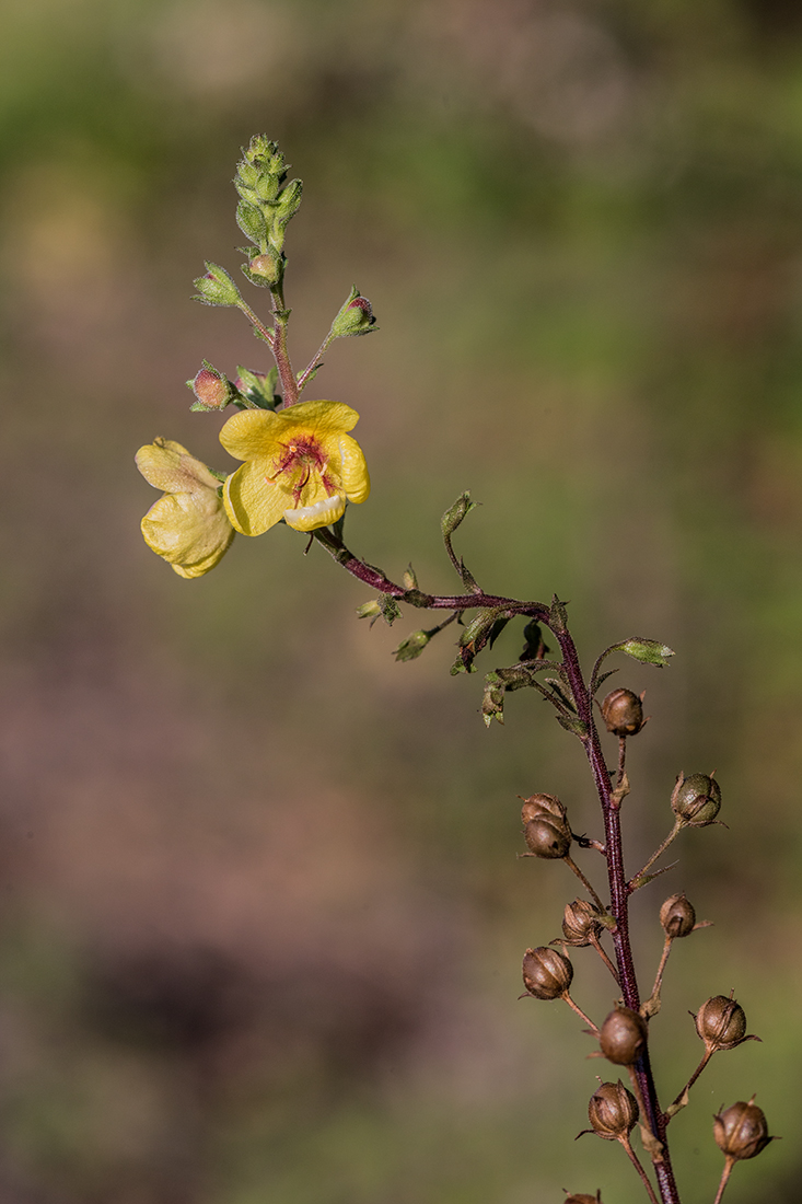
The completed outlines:
[[[204,356],[265,368],[237,313],[230,179],[277,137],[296,366],[352,283],[381,332],[312,396],[361,413],[349,542],[454,586],[571,602],[586,660],[677,650],[631,750],[627,858],[715,768],[729,827],[636,899],[715,927],[670,962],[664,1102],[735,987],[763,1044],[714,1058],[672,1126],[712,1200],[712,1112],[757,1092],[785,1140],[727,1200],[802,1196],[802,10],[791,0],[6,0],[0,40],[4,573],[0,1196],[12,1204],[548,1204],[641,1199],[574,1134],[603,1067],[526,945],[576,896],[519,861],[518,795],[598,832],[576,742],[529,692],[485,732],[450,632],[356,622],[303,537],[237,539],[184,582],[143,544],[155,435]],[[264,294],[252,290],[256,301]],[[507,628],[484,671],[509,663]],[[611,755],[613,754],[611,740]],[[598,867],[585,855],[583,864]],[[576,955],[595,1019],[609,979]]]

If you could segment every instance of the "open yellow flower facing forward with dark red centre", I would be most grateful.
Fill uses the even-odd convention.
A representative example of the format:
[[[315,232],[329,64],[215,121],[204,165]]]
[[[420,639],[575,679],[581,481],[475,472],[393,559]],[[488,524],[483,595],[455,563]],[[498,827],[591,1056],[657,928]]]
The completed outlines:
[[[371,491],[365,456],[347,433],[359,414],[337,401],[303,401],[273,412],[229,418],[220,443],[246,462],[225,483],[225,509],[242,535],[261,535],[282,519],[296,531],[336,523],[346,500]]]

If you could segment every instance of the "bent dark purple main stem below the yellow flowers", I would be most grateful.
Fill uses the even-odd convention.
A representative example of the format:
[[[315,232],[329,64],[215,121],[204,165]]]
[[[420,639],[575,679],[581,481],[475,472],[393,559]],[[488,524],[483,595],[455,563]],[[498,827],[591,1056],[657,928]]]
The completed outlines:
[[[582,724],[584,734],[579,736],[582,745],[588,757],[588,763],[596,785],[596,792],[601,803],[605,818],[605,848],[607,856],[607,874],[611,892],[612,915],[615,927],[612,929],[613,944],[615,946],[615,961],[618,963],[618,980],[621,987],[624,1003],[632,1011],[638,1011],[641,997],[638,981],[632,960],[632,948],[629,931],[629,896],[631,885],[626,880],[624,872],[624,854],[621,846],[620,803],[621,795],[612,789],[611,774],[601,750],[598,730],[594,721],[592,694],[585,684],[577,647],[567,627],[554,619],[552,608],[543,602],[519,602],[515,598],[497,597],[496,595],[464,594],[443,597],[441,595],[423,594],[420,590],[407,590],[402,585],[391,582],[379,568],[367,565],[355,556],[346,547],[342,538],[329,527],[318,527],[312,532],[318,543],[337,561],[338,565],[356,577],[366,585],[406,602],[409,606],[427,610],[468,610],[493,608],[500,612],[500,618],[514,618],[515,615],[527,615],[538,622],[544,624],[554,633],[562,653],[562,668],[571,689],[571,694],[577,707],[577,718]],[[674,833],[676,834],[676,833]],[[673,837],[672,837],[673,839]],[[662,849],[660,850],[662,851]],[[653,858],[655,860],[655,858]],[[650,864],[651,862],[649,862]],[[666,1144],[666,1117],[657,1102],[657,1093],[649,1061],[648,1045],[643,1055],[635,1064],[641,1097],[643,1099],[643,1115],[648,1128],[656,1138],[656,1152],[653,1155],[655,1175],[660,1188],[662,1204],[680,1204],[679,1193],[674,1182],[674,1175]],[[635,1157],[632,1155],[632,1157]],[[636,1164],[637,1159],[635,1159]],[[641,1168],[642,1169],[642,1168]],[[657,1204],[648,1179],[649,1198]]]

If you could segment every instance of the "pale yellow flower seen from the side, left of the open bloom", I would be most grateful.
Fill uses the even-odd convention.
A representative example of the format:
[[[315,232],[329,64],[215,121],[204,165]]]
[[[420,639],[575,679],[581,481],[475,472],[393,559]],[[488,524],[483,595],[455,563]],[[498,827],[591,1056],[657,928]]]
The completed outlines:
[[[217,478],[172,439],[140,448],[136,467],[148,484],[165,491],[142,519],[148,548],[181,577],[208,573],[234,539]]]

